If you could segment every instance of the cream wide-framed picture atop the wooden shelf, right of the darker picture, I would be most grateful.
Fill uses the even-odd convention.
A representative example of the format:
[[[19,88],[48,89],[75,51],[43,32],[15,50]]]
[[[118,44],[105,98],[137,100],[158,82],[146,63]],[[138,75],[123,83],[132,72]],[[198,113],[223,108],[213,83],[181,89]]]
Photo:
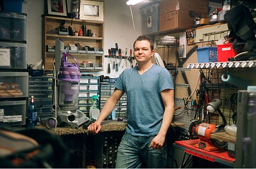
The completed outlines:
[[[104,21],[103,1],[80,1],[80,19]]]

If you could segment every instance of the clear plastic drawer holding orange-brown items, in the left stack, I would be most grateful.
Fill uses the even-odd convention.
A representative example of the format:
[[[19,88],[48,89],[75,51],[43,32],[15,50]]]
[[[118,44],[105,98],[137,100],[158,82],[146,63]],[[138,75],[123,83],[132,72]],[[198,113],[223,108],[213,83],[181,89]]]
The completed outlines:
[[[0,72],[0,98],[23,98],[27,96],[27,72]]]

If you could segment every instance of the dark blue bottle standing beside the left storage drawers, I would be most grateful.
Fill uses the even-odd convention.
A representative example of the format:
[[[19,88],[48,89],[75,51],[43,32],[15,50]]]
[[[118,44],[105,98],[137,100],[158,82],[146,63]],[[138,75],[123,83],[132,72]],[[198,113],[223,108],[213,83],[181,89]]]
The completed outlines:
[[[27,127],[37,126],[37,106],[34,104],[34,96],[31,96],[30,105],[27,108]]]

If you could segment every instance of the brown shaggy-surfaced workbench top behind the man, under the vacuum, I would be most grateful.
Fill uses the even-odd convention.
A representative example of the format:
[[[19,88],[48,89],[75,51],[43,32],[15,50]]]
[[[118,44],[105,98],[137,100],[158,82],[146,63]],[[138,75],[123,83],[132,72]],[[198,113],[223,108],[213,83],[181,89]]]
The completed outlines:
[[[86,124],[86,123],[85,123]],[[173,122],[172,126],[184,126],[183,123]],[[126,122],[118,122],[117,120],[106,120],[101,124],[101,132],[106,131],[125,131]],[[83,125],[78,129],[73,129],[71,126],[60,127],[50,129],[56,135],[75,135],[75,134],[88,134],[88,130],[83,128]]]

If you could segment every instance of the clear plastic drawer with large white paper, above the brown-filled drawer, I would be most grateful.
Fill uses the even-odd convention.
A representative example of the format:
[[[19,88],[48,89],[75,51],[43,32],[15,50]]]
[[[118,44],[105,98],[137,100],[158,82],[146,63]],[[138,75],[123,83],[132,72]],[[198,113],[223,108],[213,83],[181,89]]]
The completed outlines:
[[[1,69],[27,69],[27,44],[0,42]]]

